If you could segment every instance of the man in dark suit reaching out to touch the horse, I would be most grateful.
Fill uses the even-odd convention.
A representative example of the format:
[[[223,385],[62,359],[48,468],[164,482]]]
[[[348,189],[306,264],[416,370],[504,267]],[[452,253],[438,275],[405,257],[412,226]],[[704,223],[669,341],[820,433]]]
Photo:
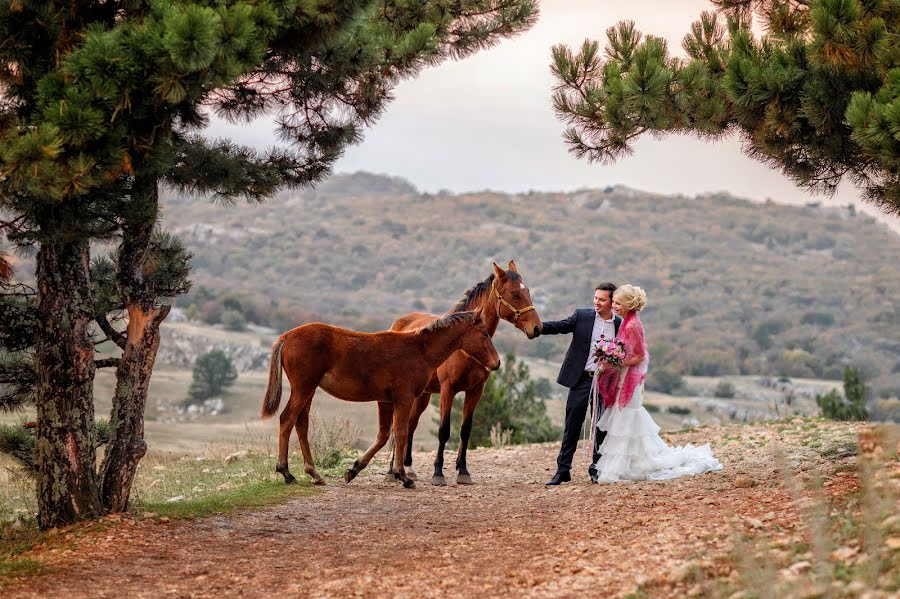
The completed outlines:
[[[572,333],[572,343],[566,352],[562,368],[556,382],[569,388],[569,397],[566,400],[566,424],[563,429],[562,445],[559,448],[559,456],[556,458],[556,474],[546,484],[558,485],[572,480],[572,456],[578,446],[578,436],[584,423],[584,416],[588,411],[591,383],[597,371],[597,364],[592,354],[597,340],[603,335],[606,339],[612,339],[619,332],[622,319],[613,317],[612,295],[616,286],[613,283],[600,283],[594,289],[594,309],[578,309],[565,320],[544,321],[541,335],[560,335]],[[591,482],[597,482],[597,471],[594,464],[600,454],[597,449],[603,442],[606,433],[597,431],[594,442],[594,451],[588,473]]]

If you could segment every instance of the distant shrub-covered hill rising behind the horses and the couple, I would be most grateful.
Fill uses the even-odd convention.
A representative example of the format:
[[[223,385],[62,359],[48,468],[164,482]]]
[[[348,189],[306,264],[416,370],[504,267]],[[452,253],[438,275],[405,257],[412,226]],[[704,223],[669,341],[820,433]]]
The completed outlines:
[[[259,321],[277,306],[297,315],[282,328],[373,330],[443,312],[515,259],[545,320],[588,306],[602,280],[644,287],[655,368],[838,378],[853,364],[900,390],[900,237],[852,208],[623,187],[427,194],[357,173],[252,206],[170,194],[164,221],[194,252],[197,287],[179,301],[194,315],[221,305]],[[567,341],[498,336],[550,359]]]

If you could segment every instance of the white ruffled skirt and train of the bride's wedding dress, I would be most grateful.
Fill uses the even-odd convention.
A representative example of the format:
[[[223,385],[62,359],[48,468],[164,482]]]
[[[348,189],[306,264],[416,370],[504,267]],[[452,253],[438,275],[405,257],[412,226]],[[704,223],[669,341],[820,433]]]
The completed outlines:
[[[613,405],[597,421],[606,431],[595,465],[599,482],[666,480],[722,469],[709,444],[666,445],[643,401],[644,385],[638,385],[625,407]]]

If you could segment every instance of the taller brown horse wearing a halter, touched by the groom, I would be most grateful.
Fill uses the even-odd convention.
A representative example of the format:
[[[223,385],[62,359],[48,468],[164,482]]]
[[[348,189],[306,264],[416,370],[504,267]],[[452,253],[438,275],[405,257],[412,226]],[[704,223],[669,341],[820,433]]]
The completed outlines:
[[[468,289],[462,299],[450,309],[450,314],[463,310],[482,310],[485,326],[491,337],[497,331],[500,319],[510,322],[533,339],[541,328],[541,319],[537,310],[531,305],[531,294],[522,280],[516,263],[509,261],[509,270],[503,270],[494,264],[494,274],[487,279]],[[392,331],[410,331],[427,325],[440,318],[434,314],[413,312],[401,316],[391,325]],[[472,484],[472,476],[466,468],[466,449],[469,445],[469,435],[472,432],[472,415],[481,395],[484,393],[484,384],[487,382],[490,372],[486,371],[478,362],[472,360],[463,352],[456,352],[444,362],[436,372],[431,375],[425,391],[416,400],[414,409],[410,414],[409,436],[406,444],[406,457],[403,462],[407,467],[408,475],[416,478],[412,470],[412,440],[419,417],[428,407],[432,393],[441,394],[440,428],[438,429],[438,453],[434,460],[434,476],[431,478],[433,485],[446,485],[444,478],[444,447],[450,439],[450,411],[453,409],[453,397],[462,391],[466,394],[463,402],[462,427],[459,431],[459,450],[456,454],[456,482],[461,485]],[[394,448],[404,447],[399,438],[395,438]],[[394,463],[394,461],[392,461]],[[394,476],[393,467],[388,476]]]

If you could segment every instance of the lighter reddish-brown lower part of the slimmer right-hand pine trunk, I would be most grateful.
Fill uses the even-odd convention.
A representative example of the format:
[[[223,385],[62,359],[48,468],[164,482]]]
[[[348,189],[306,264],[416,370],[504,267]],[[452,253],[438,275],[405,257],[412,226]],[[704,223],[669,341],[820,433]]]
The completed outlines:
[[[153,363],[159,349],[159,326],[170,306],[144,310],[128,307],[128,340],[116,371],[116,392],[110,416],[112,438],[101,468],[100,499],[109,512],[128,509],[138,463],[147,453],[144,408]]]

